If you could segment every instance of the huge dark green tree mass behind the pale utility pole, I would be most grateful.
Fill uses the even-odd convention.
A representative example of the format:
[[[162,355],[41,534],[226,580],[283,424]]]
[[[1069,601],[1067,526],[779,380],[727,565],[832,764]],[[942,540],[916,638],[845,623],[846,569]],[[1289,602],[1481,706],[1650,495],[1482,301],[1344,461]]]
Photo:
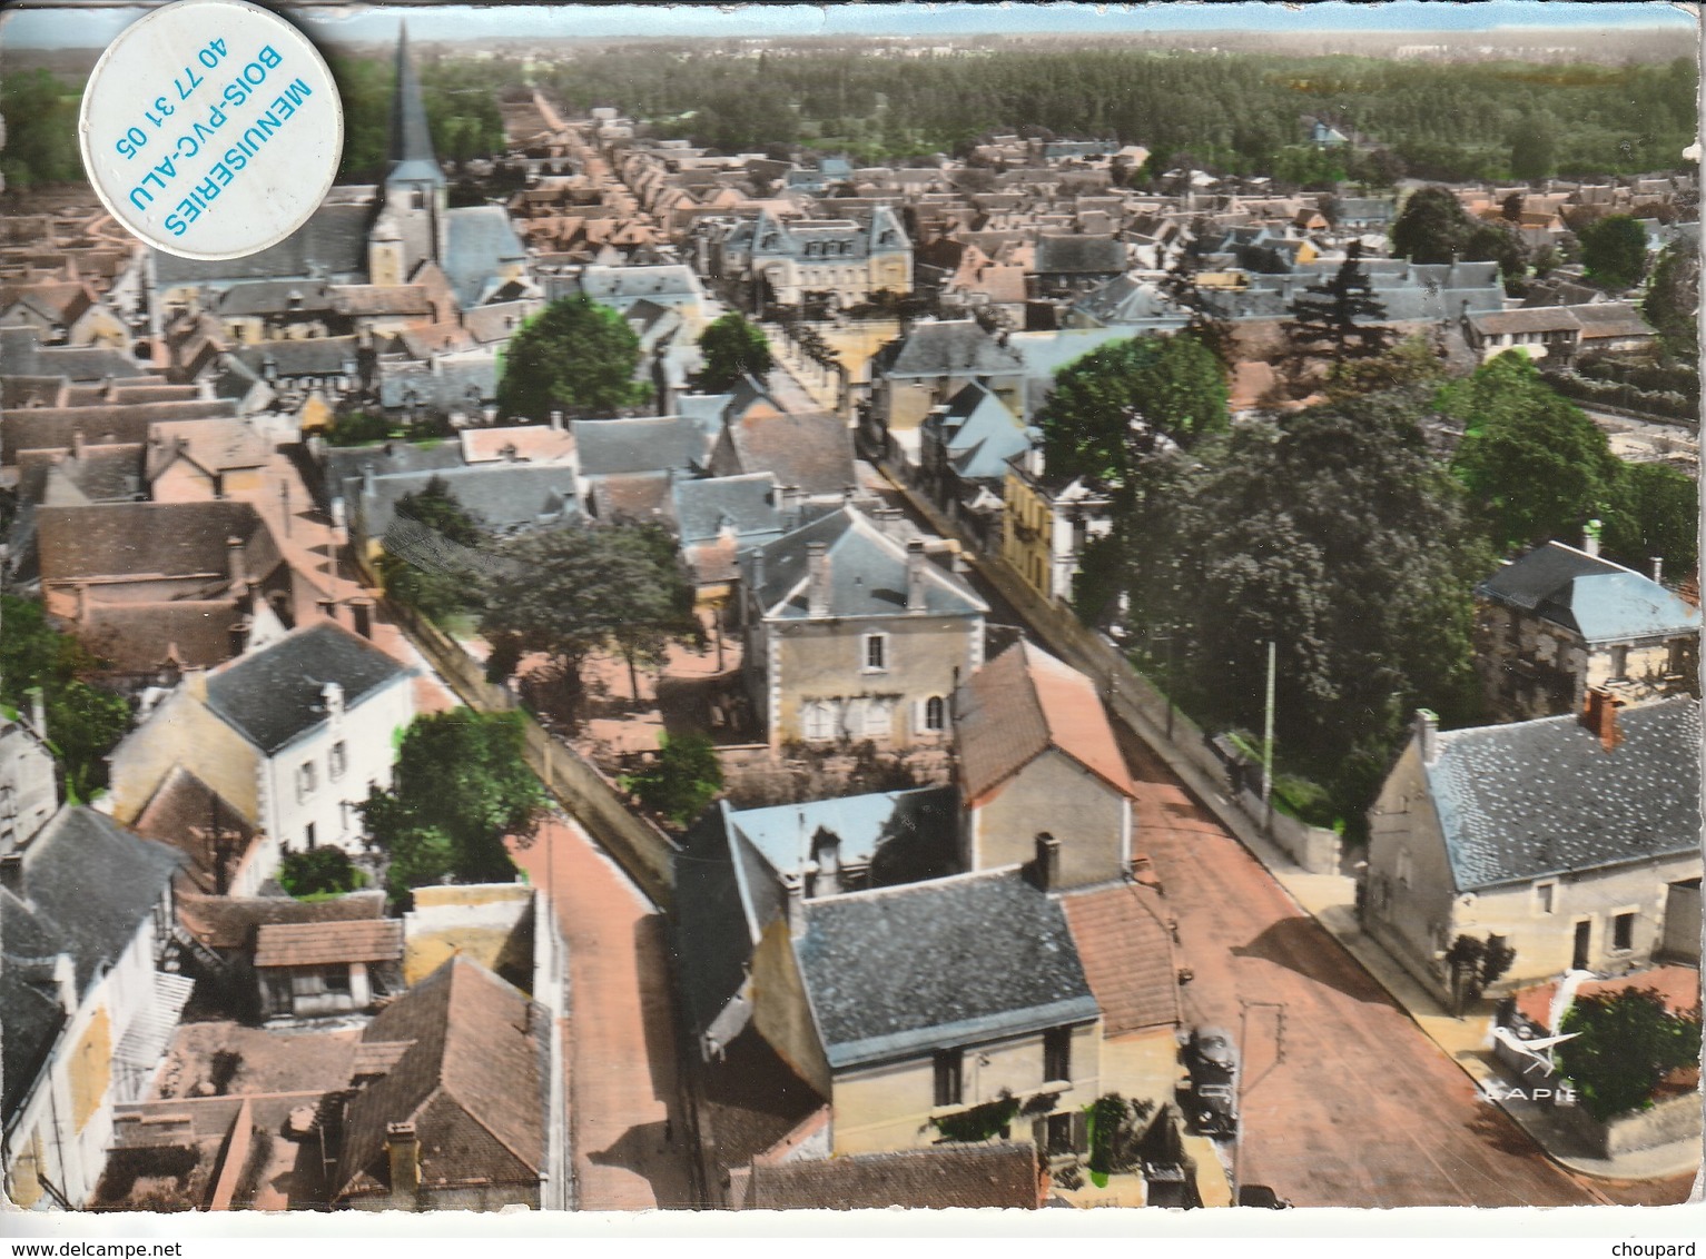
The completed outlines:
[[[1428,449],[1428,391],[1387,391],[1240,425],[1199,449],[1131,531],[1138,636],[1167,628],[1186,706],[1261,722],[1278,645],[1281,759],[1358,817],[1418,706],[1472,720],[1474,582],[1491,565]]]

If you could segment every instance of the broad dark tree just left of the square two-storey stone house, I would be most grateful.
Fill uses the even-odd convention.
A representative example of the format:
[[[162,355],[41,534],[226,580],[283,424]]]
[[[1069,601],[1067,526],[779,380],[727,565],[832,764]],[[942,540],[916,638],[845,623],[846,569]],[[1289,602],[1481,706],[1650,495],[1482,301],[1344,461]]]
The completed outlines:
[[[693,587],[655,525],[524,534],[498,558],[481,631],[508,660],[522,652],[549,657],[577,701],[594,652],[618,647],[631,676],[660,643],[698,633]]]

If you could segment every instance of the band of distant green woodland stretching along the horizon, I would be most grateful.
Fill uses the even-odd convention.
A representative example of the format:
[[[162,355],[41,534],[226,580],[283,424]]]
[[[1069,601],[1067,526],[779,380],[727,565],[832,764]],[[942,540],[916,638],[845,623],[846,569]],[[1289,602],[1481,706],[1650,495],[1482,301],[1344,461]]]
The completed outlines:
[[[389,60],[333,58],[345,94],[345,179],[384,171]],[[512,58],[423,58],[442,157],[503,150],[496,96],[525,84]],[[1694,140],[1697,70],[1668,63],[1418,63],[1131,48],[889,58],[860,51],[718,55],[623,44],[536,73],[572,111],[614,106],[655,135],[723,152],[805,145],[862,162],[967,154],[995,133],[1141,143],[1152,172],[1189,162],[1220,174],[1312,184],[1356,179],[1539,179],[1682,165]],[[46,72],[0,85],[14,188],[78,176],[77,96]],[[1305,116],[1370,142],[1303,143]],[[1158,165],[1157,165],[1158,164]]]

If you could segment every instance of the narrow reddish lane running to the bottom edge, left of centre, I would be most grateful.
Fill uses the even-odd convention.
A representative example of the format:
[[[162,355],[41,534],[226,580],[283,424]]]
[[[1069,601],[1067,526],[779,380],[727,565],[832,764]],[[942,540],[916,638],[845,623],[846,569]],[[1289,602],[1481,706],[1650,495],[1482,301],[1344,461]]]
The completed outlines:
[[[517,863],[568,942],[568,1117],[582,1211],[693,1208],[664,916],[570,821]]]

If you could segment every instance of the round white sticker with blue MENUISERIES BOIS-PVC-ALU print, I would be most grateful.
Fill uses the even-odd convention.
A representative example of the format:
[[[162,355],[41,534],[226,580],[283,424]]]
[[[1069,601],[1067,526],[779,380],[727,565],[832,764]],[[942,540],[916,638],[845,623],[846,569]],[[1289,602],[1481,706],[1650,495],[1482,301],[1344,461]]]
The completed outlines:
[[[179,258],[242,258],[326,196],[343,102],[281,17],[246,0],[177,0],[101,55],[78,140],[96,193],[135,235]]]

